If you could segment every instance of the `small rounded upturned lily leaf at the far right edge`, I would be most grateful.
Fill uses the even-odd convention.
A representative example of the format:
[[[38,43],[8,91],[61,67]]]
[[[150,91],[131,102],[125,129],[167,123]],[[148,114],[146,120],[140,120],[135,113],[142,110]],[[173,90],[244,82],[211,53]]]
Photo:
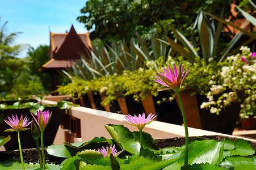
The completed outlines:
[[[236,147],[234,150],[231,151],[232,155],[253,155],[255,153],[254,149],[251,147],[249,142],[246,142],[244,139],[237,139],[234,143]]]

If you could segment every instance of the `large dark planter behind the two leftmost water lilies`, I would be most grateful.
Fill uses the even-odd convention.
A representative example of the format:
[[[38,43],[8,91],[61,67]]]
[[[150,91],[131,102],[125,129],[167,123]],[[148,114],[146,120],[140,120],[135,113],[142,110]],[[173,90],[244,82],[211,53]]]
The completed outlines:
[[[58,107],[45,107],[45,110],[52,111],[52,117],[47,125],[47,128],[45,128],[44,131],[44,146],[50,146],[53,143],[53,140],[55,138],[55,135],[58,130],[58,126],[61,124],[62,118],[65,114],[65,110],[61,110]],[[3,111],[4,119],[7,119],[7,117],[11,117],[12,114],[17,114],[18,117],[23,114],[24,116],[27,116],[30,120],[33,120],[30,109],[8,109]],[[30,127],[29,127],[30,128]],[[2,122],[0,124],[0,136],[7,137],[8,135],[11,136],[11,140],[7,142],[4,146],[6,150],[17,150],[19,149],[18,145],[18,137],[16,131],[9,132],[4,131],[6,129],[10,129],[10,126],[7,125],[5,122]],[[22,148],[36,148],[36,141],[32,138],[31,130],[21,131],[20,132],[20,142],[22,145]]]

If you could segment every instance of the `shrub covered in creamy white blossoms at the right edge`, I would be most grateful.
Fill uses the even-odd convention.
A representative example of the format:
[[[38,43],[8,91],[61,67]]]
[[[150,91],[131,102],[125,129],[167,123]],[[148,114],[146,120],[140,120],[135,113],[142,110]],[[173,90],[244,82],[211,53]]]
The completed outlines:
[[[241,118],[256,117],[256,53],[242,46],[242,53],[230,56],[222,63],[222,68],[209,80],[208,102],[201,108],[210,108],[217,113],[232,102],[241,102]],[[217,99],[216,99],[217,96]]]

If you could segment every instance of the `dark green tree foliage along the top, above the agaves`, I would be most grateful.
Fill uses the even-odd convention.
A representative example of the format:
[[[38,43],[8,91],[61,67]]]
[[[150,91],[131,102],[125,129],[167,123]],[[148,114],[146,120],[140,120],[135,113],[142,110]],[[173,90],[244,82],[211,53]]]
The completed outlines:
[[[142,37],[150,35],[152,29],[164,32],[166,21],[173,19],[173,24],[191,31],[192,23],[200,10],[220,14],[220,6],[225,6],[225,17],[230,15],[230,4],[233,1],[87,1],[81,9],[77,20],[90,30],[91,39],[125,40],[135,37],[135,31]],[[237,1],[237,3],[240,1]],[[186,29],[185,29],[186,28]]]

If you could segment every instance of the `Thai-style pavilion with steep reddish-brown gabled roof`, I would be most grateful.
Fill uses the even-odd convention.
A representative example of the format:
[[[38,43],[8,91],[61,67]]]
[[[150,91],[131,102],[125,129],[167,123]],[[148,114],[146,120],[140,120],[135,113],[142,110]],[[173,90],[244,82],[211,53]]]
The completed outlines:
[[[41,66],[40,73],[49,73],[52,78],[52,91],[58,86],[58,71],[71,67],[81,54],[90,57],[93,49],[89,32],[77,33],[72,25],[69,32],[50,32],[49,61]]]

